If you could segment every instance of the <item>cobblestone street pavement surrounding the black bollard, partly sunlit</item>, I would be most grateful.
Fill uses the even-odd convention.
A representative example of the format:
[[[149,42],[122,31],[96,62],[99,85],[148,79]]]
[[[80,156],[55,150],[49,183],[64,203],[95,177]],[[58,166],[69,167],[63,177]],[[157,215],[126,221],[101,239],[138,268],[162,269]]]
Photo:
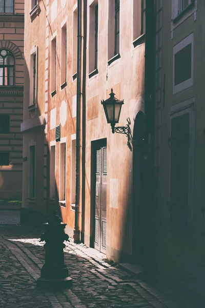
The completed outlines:
[[[44,264],[40,230],[0,226],[0,307],[136,307],[203,308],[189,297],[159,292],[133,274],[104,262],[105,255],[83,244],[67,242],[65,263],[73,279],[70,289],[49,291],[36,287]]]

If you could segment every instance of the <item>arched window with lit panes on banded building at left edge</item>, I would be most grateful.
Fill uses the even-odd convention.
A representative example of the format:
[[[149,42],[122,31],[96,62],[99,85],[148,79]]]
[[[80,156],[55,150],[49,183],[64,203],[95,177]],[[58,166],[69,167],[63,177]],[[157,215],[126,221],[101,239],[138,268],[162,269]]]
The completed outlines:
[[[14,86],[14,56],[7,49],[0,49],[0,86]]]

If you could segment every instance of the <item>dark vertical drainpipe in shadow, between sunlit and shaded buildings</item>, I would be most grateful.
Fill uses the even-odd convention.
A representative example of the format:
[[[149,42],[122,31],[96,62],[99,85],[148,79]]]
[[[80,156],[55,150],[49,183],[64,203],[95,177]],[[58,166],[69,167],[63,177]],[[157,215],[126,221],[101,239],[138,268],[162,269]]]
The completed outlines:
[[[147,256],[145,260],[145,272],[152,275],[153,263],[156,252],[156,230],[153,217],[155,215],[154,204],[154,115],[155,115],[155,5],[154,0],[146,0],[146,38],[145,38],[145,136],[147,147],[146,160],[146,213],[147,216]],[[148,193],[147,193],[148,192]],[[150,257],[152,256],[152,257]],[[152,259],[152,260],[150,260]]]

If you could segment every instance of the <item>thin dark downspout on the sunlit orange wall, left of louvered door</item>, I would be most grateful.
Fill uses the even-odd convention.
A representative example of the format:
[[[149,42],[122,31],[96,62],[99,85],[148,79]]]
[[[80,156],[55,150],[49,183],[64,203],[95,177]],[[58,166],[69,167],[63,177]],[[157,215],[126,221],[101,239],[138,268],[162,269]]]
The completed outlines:
[[[73,239],[79,241],[79,166],[80,166],[80,99],[81,99],[81,0],[77,0],[77,91],[76,91],[76,178],[75,227]]]

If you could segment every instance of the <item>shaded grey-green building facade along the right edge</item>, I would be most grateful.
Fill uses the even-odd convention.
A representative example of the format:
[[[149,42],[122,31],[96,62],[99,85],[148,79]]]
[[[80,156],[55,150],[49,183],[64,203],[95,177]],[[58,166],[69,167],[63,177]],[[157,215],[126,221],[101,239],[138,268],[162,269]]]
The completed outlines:
[[[200,1],[172,0],[168,6],[162,4],[156,23],[158,261],[162,273],[200,294],[204,283],[204,10]]]

